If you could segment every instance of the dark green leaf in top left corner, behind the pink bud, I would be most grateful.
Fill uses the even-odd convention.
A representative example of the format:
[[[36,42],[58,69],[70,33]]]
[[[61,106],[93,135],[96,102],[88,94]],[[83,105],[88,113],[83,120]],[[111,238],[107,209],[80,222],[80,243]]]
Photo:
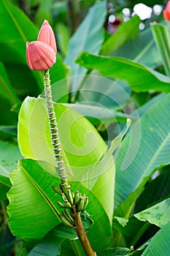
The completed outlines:
[[[0,60],[7,69],[12,86],[22,96],[26,95],[25,90],[28,94],[32,94],[33,91],[39,93],[39,89],[43,89],[42,75],[28,69],[26,64],[26,42],[34,41],[38,30],[24,12],[5,0],[0,1],[0,26]]]

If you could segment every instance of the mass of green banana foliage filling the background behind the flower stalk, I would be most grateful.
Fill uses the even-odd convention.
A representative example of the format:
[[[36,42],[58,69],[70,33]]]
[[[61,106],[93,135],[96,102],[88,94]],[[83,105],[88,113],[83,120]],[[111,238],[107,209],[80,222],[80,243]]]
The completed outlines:
[[[57,217],[43,74],[26,63],[45,19],[58,45],[50,75],[63,157],[72,188],[89,197],[93,249],[169,255],[169,24],[154,9],[140,20],[138,3],[166,4],[0,1],[0,255],[84,255]]]

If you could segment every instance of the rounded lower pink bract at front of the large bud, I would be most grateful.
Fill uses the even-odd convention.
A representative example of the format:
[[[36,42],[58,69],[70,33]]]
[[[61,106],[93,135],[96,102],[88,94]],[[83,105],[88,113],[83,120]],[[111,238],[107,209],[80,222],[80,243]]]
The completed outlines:
[[[56,54],[53,48],[45,42],[27,42],[26,59],[30,69],[42,71],[53,67],[56,61]]]

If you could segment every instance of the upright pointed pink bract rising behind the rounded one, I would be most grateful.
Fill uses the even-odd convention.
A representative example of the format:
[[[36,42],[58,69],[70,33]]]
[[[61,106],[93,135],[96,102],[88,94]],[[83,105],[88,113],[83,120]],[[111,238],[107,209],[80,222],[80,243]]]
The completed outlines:
[[[55,53],[57,53],[53,29],[51,28],[47,20],[44,21],[41,29],[39,30],[38,41],[46,42],[47,45],[50,45],[55,51]]]

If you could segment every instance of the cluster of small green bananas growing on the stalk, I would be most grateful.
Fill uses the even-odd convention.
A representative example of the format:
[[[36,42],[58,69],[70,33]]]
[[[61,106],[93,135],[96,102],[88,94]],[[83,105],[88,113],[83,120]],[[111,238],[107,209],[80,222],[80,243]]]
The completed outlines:
[[[76,210],[76,213],[80,214],[81,211],[85,210],[85,207],[88,206],[88,197],[85,194],[81,194],[78,190],[75,193],[71,192],[69,187],[63,186],[59,189],[53,186],[53,189],[61,195],[63,200],[63,203],[60,201],[57,202],[58,206],[64,208],[60,214],[61,222],[66,226],[74,227],[74,211]]]

